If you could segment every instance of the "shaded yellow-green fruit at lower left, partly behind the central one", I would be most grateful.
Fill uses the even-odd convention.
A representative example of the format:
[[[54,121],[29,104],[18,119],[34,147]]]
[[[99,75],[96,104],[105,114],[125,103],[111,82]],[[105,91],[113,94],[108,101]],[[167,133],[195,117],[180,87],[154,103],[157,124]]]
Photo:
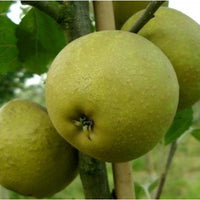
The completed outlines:
[[[37,198],[67,186],[77,174],[77,151],[53,127],[47,111],[28,100],[0,109],[0,184]]]

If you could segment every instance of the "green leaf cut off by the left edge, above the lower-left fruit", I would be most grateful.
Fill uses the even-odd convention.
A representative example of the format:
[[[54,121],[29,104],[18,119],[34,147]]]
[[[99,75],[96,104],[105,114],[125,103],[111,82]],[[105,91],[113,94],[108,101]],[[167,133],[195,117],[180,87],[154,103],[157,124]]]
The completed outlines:
[[[21,66],[16,46],[16,25],[5,15],[0,15],[0,74]]]

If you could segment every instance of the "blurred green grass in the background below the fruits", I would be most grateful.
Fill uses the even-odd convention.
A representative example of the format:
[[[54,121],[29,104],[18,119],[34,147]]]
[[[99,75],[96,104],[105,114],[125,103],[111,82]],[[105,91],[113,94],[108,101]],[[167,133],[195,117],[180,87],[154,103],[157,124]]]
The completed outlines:
[[[158,177],[165,163],[169,146],[159,144],[147,156],[132,162],[134,181],[144,185]],[[180,143],[171,165],[161,198],[186,199],[200,198],[200,143],[192,136],[187,136]],[[147,159],[149,158],[149,159]],[[110,188],[113,188],[111,165],[107,164]],[[137,184],[138,185],[138,184]],[[155,193],[155,190],[152,191]],[[5,191],[4,191],[5,193]],[[152,193],[152,194],[153,194]],[[5,194],[4,194],[5,195]],[[140,192],[139,198],[147,198]],[[8,192],[11,199],[27,198],[15,192]],[[152,195],[153,197],[153,195]],[[78,176],[67,188],[58,192],[52,199],[83,199],[83,189]]]

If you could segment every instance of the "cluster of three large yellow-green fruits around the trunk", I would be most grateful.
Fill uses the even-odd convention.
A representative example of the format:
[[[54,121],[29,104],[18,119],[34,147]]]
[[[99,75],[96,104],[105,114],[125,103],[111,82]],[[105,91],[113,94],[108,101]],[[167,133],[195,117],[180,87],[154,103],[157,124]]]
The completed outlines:
[[[142,12],[121,30],[88,34],[56,56],[47,75],[48,112],[28,100],[0,109],[3,186],[52,195],[76,177],[76,149],[108,162],[142,156],[167,132],[177,108],[200,99],[199,25],[161,7],[139,34],[128,32]]]

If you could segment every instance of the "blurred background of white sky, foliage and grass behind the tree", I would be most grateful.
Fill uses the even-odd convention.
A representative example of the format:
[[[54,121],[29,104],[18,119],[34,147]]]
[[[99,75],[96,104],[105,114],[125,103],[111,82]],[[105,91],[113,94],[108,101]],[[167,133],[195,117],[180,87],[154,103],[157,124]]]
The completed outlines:
[[[187,14],[200,23],[198,0],[170,0],[169,7]],[[7,16],[19,24],[23,16],[30,10],[29,6],[22,6],[19,1],[13,2]],[[92,17],[92,16],[91,16]],[[0,105],[14,98],[26,98],[41,105],[44,101],[44,84],[46,73],[41,75],[22,70],[15,70],[0,75]],[[198,110],[200,103],[194,106]],[[151,198],[155,192],[160,173],[163,171],[169,145],[161,141],[156,148],[145,156],[132,161],[134,182],[137,198]],[[171,165],[166,185],[161,198],[200,198],[200,143],[190,134],[182,135],[175,158]],[[110,188],[113,188],[111,165],[107,164]],[[0,198],[27,198],[3,187],[0,188]],[[84,198],[80,178],[66,189],[51,198]]]

